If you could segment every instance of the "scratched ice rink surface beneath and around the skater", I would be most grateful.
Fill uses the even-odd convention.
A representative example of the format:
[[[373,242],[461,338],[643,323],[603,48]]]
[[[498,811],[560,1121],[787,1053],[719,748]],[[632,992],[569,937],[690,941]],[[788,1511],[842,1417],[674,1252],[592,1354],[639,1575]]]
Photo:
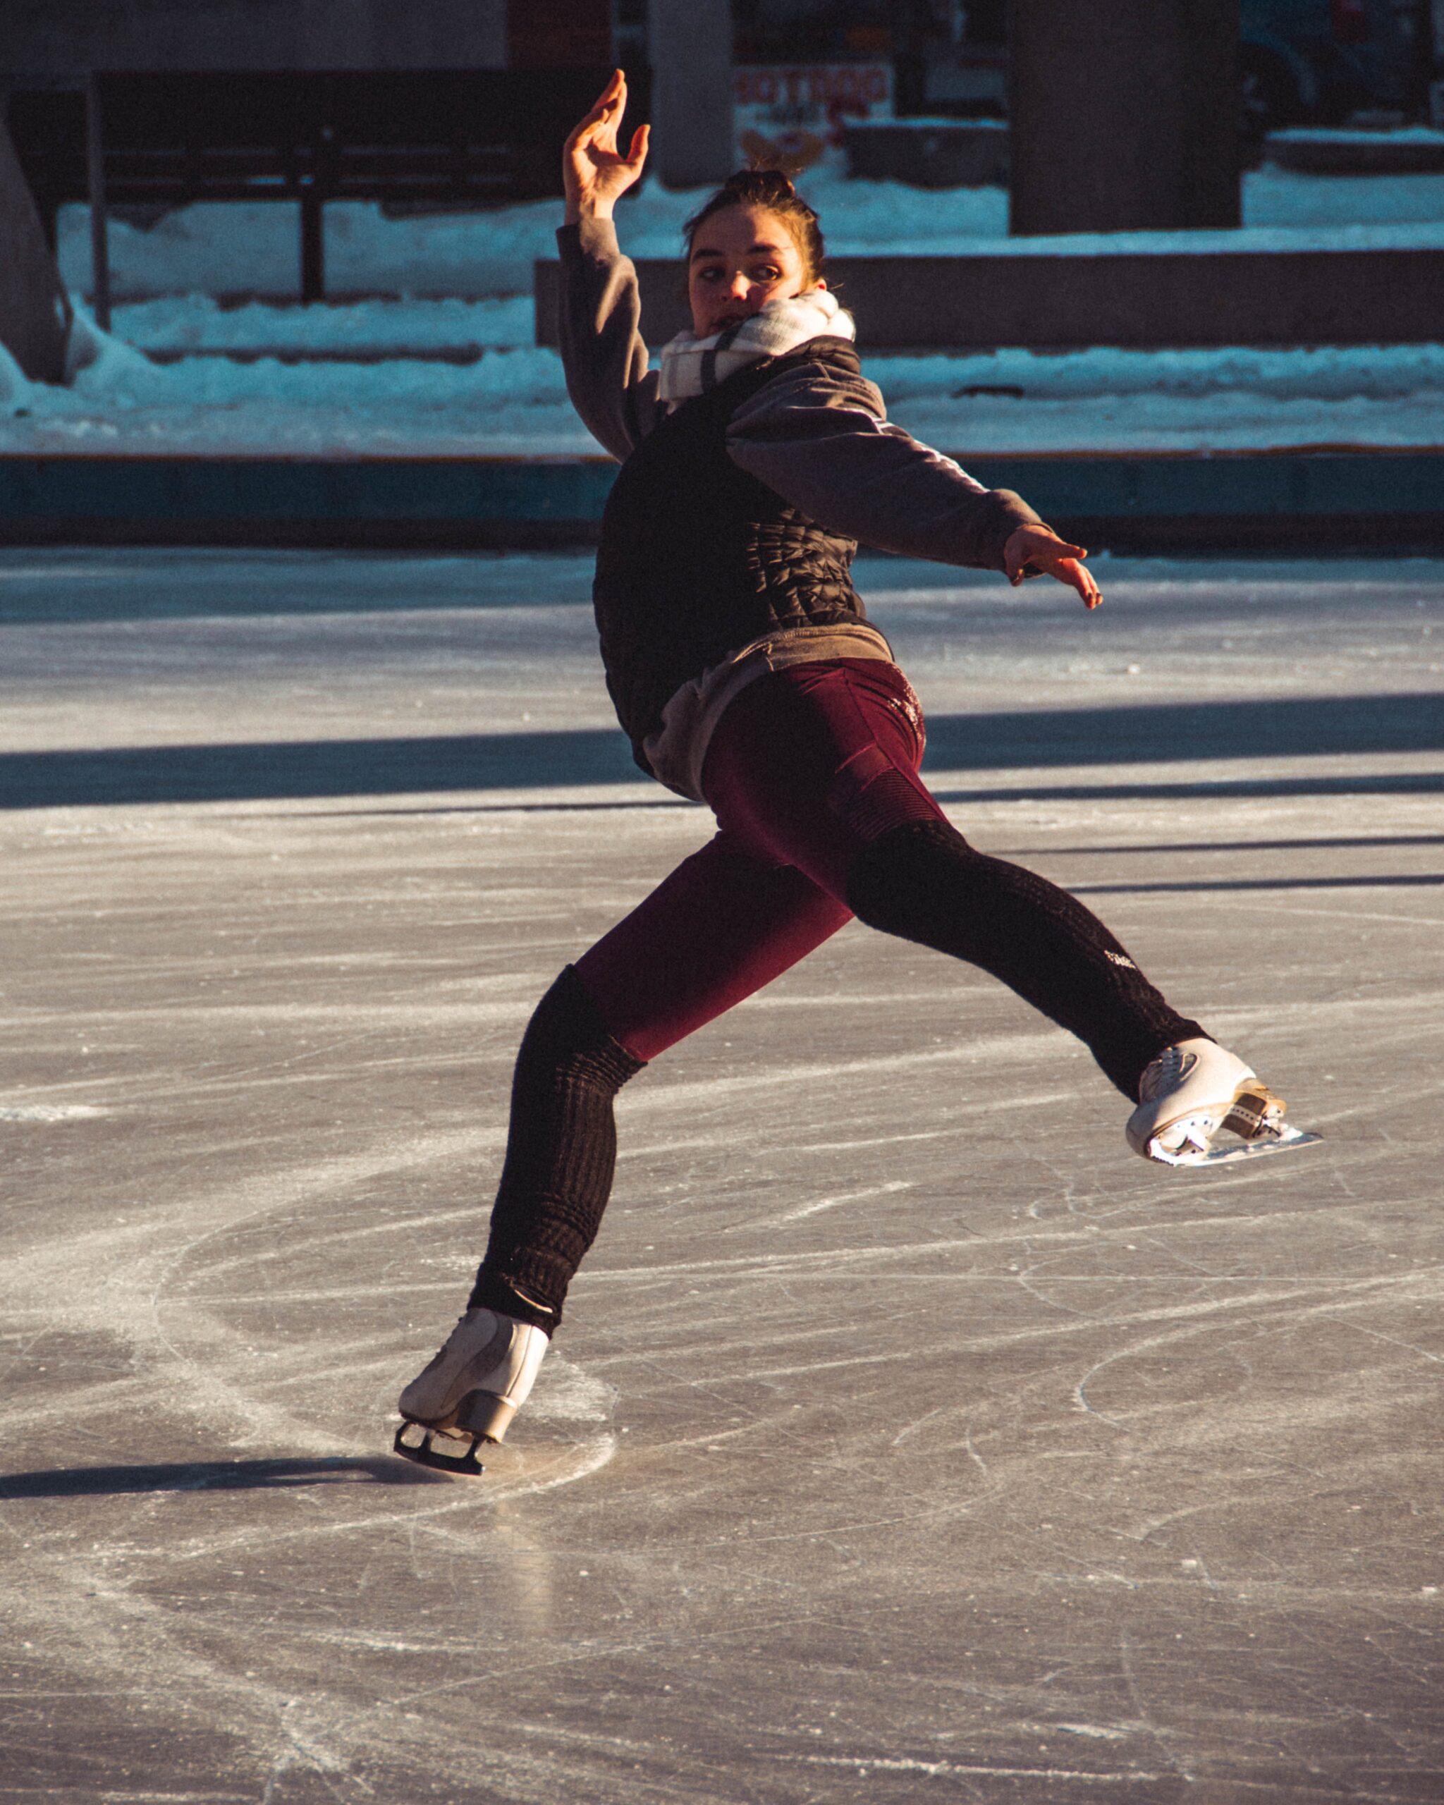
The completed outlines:
[[[458,1482],[514,1045],[706,834],[588,560],[0,554],[0,1801],[1444,1796],[1444,567],[1097,574],[861,587],[953,819],[1325,1144],[1148,1166],[848,928],[623,1094]]]

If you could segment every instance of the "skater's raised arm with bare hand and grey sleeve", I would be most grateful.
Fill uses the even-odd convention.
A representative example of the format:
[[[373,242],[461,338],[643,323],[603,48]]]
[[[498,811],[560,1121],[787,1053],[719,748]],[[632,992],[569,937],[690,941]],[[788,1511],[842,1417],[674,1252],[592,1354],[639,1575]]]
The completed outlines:
[[[612,208],[646,161],[646,126],[623,157],[617,126],[626,76],[617,70],[596,106],[567,139],[561,179],[567,224],[556,235],[561,256],[561,368],[567,393],[594,439],[625,458],[657,421],[657,375],[648,370],[639,321],[637,271],[621,255]]]

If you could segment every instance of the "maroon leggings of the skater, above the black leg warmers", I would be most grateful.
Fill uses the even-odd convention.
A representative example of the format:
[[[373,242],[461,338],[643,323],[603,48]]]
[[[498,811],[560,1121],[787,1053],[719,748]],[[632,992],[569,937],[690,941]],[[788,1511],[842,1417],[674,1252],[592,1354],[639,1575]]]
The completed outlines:
[[[751,682],[708,747],[717,836],[576,962],[610,1034],[655,1060],[852,921],[857,854],[904,821],[946,821],[921,760],[922,711],[895,664]]]

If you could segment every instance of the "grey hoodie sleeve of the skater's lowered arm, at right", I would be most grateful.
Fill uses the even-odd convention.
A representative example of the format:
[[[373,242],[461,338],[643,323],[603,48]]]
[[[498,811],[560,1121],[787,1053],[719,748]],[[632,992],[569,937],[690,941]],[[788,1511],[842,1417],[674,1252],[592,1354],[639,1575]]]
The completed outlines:
[[[1009,534],[1038,520],[1011,489],[888,422],[881,390],[821,363],[794,366],[745,401],[727,453],[816,522],[884,552],[1004,570]]]

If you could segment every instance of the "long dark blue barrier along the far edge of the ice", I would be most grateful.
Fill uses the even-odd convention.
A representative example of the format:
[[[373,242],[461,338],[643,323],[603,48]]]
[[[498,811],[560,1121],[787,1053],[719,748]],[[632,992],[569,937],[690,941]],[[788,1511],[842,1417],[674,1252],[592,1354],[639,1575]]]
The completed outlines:
[[[1099,549],[1444,545],[1444,446],[964,462]],[[0,543],[588,545],[616,469],[606,457],[0,455]]]

